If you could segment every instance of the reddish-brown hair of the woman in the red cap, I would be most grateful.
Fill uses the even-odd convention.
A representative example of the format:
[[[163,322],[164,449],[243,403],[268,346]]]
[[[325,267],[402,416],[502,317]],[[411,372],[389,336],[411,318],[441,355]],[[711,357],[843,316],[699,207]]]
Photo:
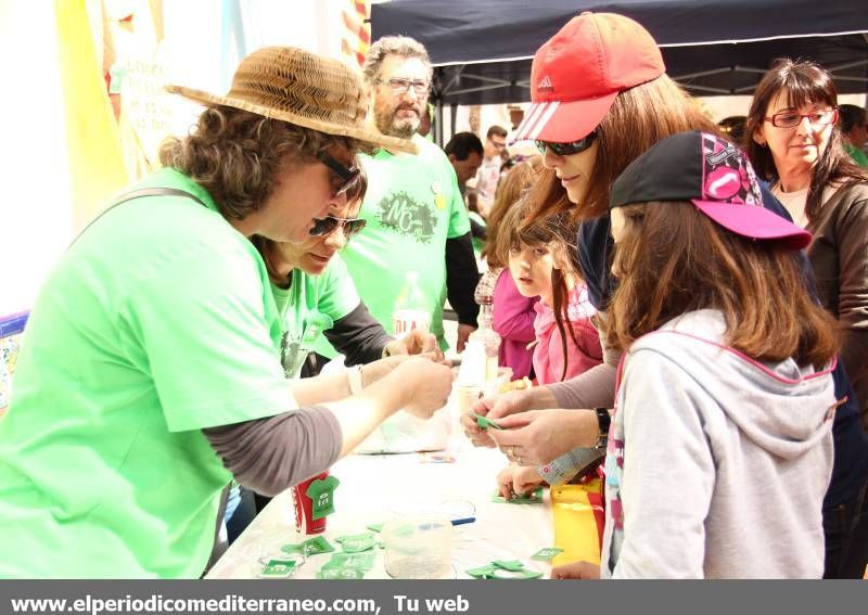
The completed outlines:
[[[554,171],[546,169],[531,191],[533,218],[561,212],[570,212],[576,222],[599,218],[608,212],[612,183],[627,165],[661,139],[686,130],[719,133],[668,76],[624,90],[597,126],[597,162],[584,202],[571,203]]]

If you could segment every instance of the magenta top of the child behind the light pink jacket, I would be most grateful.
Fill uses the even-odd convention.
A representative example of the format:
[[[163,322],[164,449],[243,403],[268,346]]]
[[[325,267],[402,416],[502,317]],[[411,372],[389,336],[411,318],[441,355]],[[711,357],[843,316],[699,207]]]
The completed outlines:
[[[524,297],[506,268],[495,284],[493,328],[500,334],[500,366],[512,368],[512,380],[531,374],[532,350],[527,345],[536,339],[534,306],[539,297]]]

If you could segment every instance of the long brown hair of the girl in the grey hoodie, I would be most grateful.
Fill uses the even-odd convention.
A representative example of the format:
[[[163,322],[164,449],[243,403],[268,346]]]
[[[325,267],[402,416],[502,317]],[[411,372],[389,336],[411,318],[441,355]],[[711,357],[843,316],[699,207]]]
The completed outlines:
[[[627,349],[682,313],[720,310],[729,345],[761,361],[821,369],[840,346],[835,321],[805,290],[795,253],[716,226],[687,202],[623,207],[618,287],[607,342]]]

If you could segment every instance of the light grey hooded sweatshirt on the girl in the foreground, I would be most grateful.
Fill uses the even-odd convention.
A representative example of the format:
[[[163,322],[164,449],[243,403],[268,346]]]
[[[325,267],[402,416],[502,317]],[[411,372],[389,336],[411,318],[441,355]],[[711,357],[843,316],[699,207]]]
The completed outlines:
[[[601,573],[820,578],[834,385],[726,347],[723,315],[684,315],[626,356],[607,451]]]

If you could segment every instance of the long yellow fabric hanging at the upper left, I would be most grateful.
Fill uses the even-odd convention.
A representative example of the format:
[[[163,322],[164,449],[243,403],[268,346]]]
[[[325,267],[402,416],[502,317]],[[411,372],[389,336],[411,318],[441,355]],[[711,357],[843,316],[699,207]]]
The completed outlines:
[[[77,231],[127,183],[127,175],[117,124],[105,81],[100,75],[85,0],[55,0],[54,14],[73,223]]]

